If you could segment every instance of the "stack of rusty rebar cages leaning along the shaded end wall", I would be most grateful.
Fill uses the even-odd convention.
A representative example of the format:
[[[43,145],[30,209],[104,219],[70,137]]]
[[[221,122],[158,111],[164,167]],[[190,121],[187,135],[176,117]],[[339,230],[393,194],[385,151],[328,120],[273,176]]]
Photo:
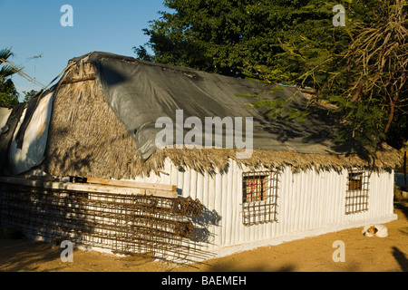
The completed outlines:
[[[198,199],[43,189],[0,183],[0,226],[120,254],[186,259]]]

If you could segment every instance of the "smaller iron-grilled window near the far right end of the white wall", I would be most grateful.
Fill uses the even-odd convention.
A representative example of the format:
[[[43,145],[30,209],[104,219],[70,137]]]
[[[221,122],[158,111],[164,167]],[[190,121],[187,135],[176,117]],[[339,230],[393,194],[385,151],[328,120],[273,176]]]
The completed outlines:
[[[368,178],[368,173],[365,171],[349,171],[345,194],[346,215],[368,210]]]

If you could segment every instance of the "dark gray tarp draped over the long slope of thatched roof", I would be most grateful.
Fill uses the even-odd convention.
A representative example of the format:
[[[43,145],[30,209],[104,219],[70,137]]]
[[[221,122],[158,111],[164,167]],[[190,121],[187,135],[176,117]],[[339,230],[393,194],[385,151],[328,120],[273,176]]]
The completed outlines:
[[[287,99],[294,95],[296,88],[282,86],[281,90],[268,92],[263,83],[148,63],[112,53],[93,52],[72,61],[80,60],[95,67],[106,101],[131,134],[143,160],[157,149],[155,137],[161,129],[155,128],[156,121],[167,116],[175,123],[176,110],[183,110],[184,120],[189,116],[198,117],[203,128],[205,117],[253,117],[254,150],[335,153],[330,142],[335,133],[334,124],[324,114],[316,114],[304,124],[269,121],[259,111],[246,107],[251,99],[237,96],[264,91],[273,98]],[[306,101],[306,97],[297,92],[292,105],[301,108]]]

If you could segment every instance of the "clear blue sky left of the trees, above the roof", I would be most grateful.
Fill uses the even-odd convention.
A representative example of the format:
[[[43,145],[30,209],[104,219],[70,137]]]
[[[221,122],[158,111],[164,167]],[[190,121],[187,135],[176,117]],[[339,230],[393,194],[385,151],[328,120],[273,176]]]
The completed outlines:
[[[63,5],[73,7],[73,27],[62,26]],[[1,48],[11,48],[10,60],[24,66],[24,73],[47,85],[76,56],[102,51],[136,57],[132,47],[147,43],[142,32],[149,21],[169,11],[162,0],[0,0]],[[36,62],[31,59],[42,54]],[[36,63],[36,64],[35,64]],[[13,76],[22,94],[38,90],[32,82]]]

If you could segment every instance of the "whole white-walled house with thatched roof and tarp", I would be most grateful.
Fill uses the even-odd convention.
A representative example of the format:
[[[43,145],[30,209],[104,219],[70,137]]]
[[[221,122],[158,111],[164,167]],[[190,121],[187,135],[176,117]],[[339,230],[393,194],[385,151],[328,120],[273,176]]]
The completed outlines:
[[[0,222],[31,237],[202,260],[396,218],[395,150],[336,147],[324,108],[303,124],[269,121],[238,97],[257,92],[292,98],[294,108],[308,100],[292,87],[269,92],[263,83],[112,53],[73,58],[51,89],[0,111]],[[181,138],[176,131],[158,148],[157,121],[177,124],[180,111]],[[186,121],[206,117],[235,121],[235,133],[240,124],[250,154],[237,154],[249,146],[225,146],[234,135],[227,125],[202,126],[209,131],[185,143],[193,129]]]

